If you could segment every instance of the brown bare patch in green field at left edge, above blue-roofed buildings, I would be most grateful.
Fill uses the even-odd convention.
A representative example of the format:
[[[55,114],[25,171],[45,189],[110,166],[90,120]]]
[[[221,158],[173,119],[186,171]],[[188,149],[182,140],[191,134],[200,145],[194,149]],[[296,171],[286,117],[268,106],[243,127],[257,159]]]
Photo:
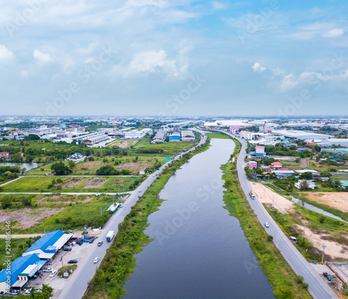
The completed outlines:
[[[35,209],[21,209],[17,211],[3,212],[0,211],[1,221],[16,221],[13,224],[15,228],[30,228],[39,223],[42,219],[55,215],[65,208],[35,208]]]

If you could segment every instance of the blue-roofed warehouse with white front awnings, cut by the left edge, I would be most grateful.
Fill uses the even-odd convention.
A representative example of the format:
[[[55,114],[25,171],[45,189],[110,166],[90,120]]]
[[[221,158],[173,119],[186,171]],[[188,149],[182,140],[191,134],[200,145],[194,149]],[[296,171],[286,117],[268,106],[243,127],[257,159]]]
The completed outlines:
[[[0,292],[6,293],[10,289],[21,291],[29,277],[33,276],[43,264],[45,261],[40,261],[38,254],[18,257],[0,272]]]

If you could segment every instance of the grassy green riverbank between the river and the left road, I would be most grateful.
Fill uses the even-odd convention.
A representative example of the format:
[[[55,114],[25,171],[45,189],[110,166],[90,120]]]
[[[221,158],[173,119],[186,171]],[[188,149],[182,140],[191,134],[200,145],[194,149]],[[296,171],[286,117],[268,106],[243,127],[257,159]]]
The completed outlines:
[[[159,198],[161,189],[164,188],[175,170],[191,159],[192,156],[205,151],[208,147],[209,140],[205,145],[189,154],[185,154],[182,159],[173,163],[157,177],[138,202],[136,202],[134,207],[132,207],[132,211],[119,225],[119,231],[113,244],[106,252],[95,277],[88,285],[87,293],[84,296],[85,299],[116,299],[125,296],[127,291],[123,289],[123,283],[130,278],[130,273],[133,272],[136,266],[134,254],[141,252],[143,246],[152,241],[144,233],[144,229],[148,226],[150,213],[157,211],[163,201]]]

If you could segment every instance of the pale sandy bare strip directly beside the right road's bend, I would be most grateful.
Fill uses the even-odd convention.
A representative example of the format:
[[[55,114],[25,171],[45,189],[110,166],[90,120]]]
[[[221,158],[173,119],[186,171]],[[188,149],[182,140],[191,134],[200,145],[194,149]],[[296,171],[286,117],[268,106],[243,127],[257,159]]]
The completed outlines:
[[[280,212],[285,213],[291,211],[294,208],[292,201],[287,200],[285,197],[271,191],[269,188],[263,186],[261,183],[251,184],[253,192],[255,193],[258,200],[262,204],[274,204],[274,207]]]

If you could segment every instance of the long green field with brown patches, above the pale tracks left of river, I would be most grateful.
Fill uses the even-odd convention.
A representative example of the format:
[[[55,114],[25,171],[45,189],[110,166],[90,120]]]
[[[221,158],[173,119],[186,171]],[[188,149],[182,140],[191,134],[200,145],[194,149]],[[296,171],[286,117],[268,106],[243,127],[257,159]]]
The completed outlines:
[[[53,180],[63,182],[52,185]],[[3,186],[1,192],[127,192],[134,190],[134,183],[139,184],[140,177],[22,177]]]

